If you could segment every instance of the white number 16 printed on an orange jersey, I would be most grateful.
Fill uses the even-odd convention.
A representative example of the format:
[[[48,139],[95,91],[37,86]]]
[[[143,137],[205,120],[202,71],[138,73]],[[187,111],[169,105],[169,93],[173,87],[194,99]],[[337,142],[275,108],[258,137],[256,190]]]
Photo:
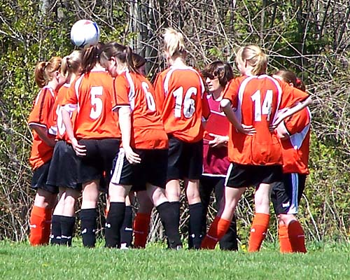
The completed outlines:
[[[195,113],[195,100],[191,98],[192,94],[194,95],[197,94],[196,87],[190,87],[187,90],[184,99],[183,99],[183,87],[179,87],[178,89],[174,90],[173,95],[175,97],[175,111],[174,111],[175,118],[181,118],[182,103],[183,103],[183,116],[185,116],[185,118],[191,118],[193,116],[193,114]]]

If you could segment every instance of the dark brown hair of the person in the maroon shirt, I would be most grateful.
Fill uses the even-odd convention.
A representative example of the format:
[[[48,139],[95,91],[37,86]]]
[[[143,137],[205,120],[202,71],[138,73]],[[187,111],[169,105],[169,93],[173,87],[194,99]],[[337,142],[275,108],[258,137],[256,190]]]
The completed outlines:
[[[216,60],[215,62],[211,62],[207,66],[204,67],[202,71],[202,76],[204,80],[206,78],[214,78],[217,77],[219,83],[222,87],[232,80],[233,71],[232,67],[228,62],[222,62],[221,60]]]

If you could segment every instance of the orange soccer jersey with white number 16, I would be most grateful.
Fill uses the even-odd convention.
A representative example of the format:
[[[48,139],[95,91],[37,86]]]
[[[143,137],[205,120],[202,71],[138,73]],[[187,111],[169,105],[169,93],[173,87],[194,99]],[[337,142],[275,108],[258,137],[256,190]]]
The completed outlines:
[[[200,73],[192,67],[172,66],[157,76],[156,102],[167,134],[186,142],[203,138],[202,119],[210,114],[204,92]]]

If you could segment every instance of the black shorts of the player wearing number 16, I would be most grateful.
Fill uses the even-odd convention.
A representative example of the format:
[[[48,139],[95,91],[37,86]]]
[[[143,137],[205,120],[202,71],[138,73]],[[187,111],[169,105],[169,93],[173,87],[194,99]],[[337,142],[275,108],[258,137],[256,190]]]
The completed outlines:
[[[203,141],[188,143],[169,136],[167,181],[198,180],[203,172]]]

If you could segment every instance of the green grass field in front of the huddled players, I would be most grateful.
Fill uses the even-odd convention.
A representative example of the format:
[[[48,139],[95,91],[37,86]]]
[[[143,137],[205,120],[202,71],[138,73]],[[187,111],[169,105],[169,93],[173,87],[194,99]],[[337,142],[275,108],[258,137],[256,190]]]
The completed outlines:
[[[0,279],[350,279],[350,244],[308,244],[307,254],[43,246],[0,241]]]

